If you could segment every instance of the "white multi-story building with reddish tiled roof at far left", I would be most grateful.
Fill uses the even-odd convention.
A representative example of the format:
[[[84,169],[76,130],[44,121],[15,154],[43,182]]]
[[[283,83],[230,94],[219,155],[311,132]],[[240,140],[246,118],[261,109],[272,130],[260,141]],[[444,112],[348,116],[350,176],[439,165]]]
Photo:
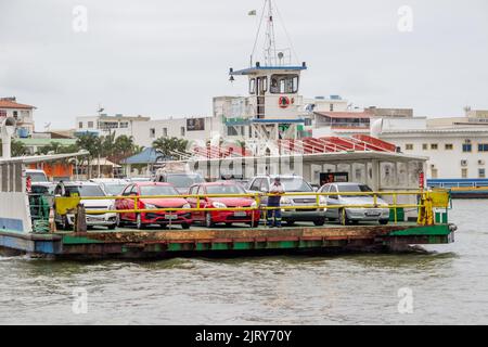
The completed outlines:
[[[17,103],[16,98],[0,98],[0,120],[12,117],[16,120],[16,136],[28,138],[34,133],[35,106]]]

